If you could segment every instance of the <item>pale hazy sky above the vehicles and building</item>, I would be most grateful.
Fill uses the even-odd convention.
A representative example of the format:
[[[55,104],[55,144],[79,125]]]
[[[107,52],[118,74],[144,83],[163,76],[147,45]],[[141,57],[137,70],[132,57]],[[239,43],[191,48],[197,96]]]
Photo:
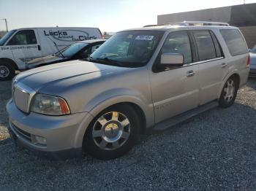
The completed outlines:
[[[10,29],[43,26],[98,27],[119,31],[157,23],[157,15],[243,4],[243,0],[0,0]],[[246,0],[255,3],[256,0]],[[5,30],[0,20],[0,31]]]

